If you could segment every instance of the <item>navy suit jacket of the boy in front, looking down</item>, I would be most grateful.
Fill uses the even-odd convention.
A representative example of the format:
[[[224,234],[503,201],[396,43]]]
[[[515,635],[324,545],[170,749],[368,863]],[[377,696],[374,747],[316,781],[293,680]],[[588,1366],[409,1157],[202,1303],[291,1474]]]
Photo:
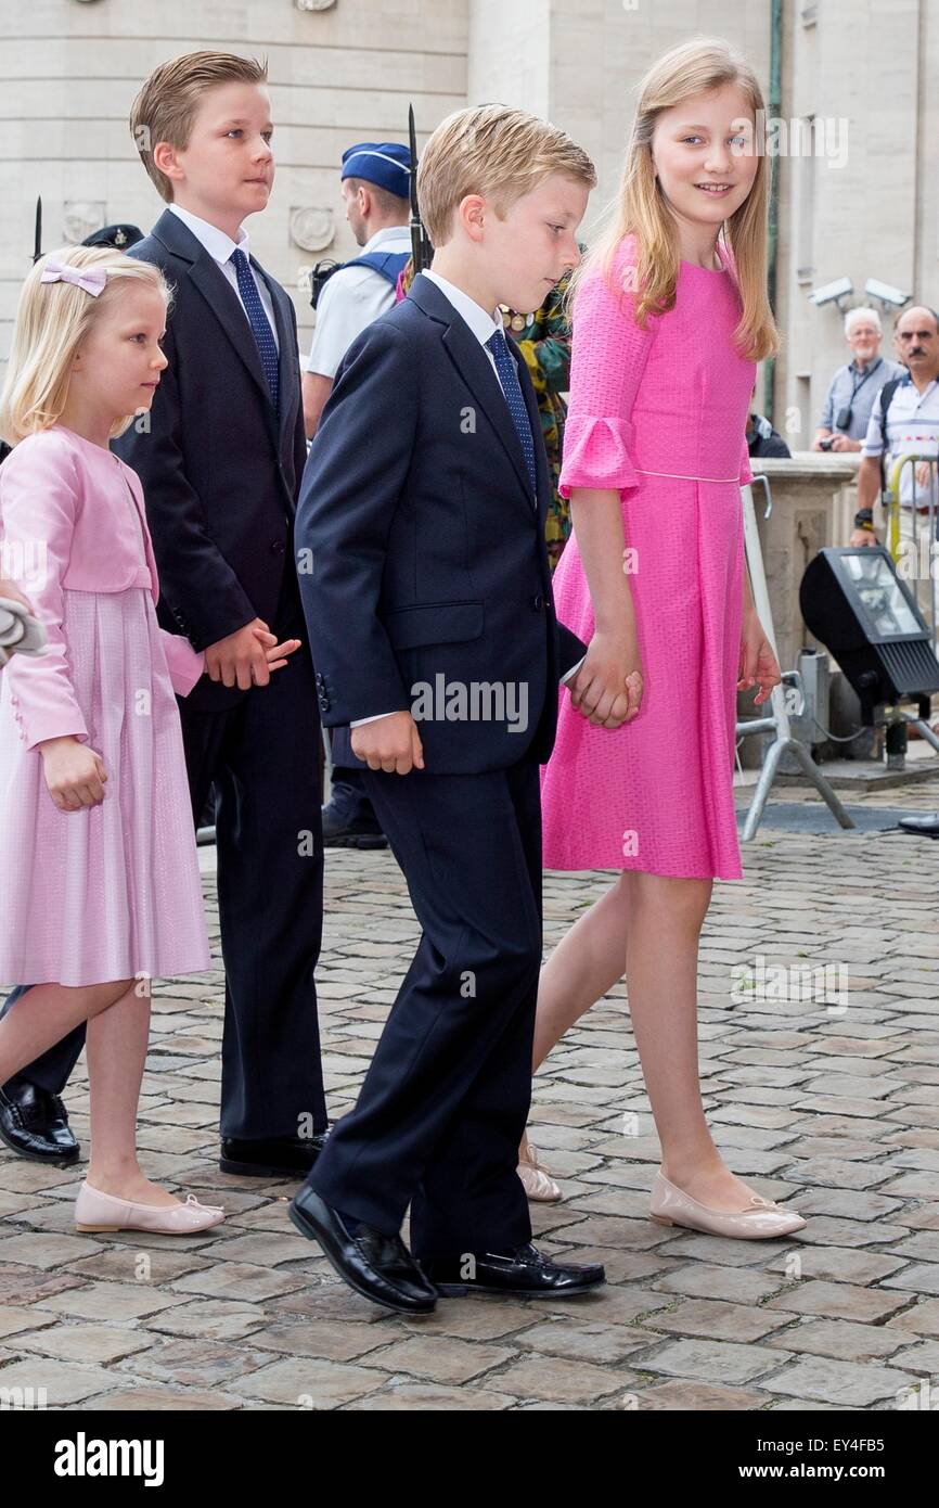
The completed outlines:
[[[416,688],[430,686],[419,733],[434,774],[546,762],[558,680],[586,648],[555,617],[541,421],[508,344],[535,437],[537,499],[487,353],[421,276],[345,353],[300,489],[298,578],[323,722],[413,710]],[[458,686],[463,716],[449,701]],[[475,703],[473,686],[484,688]],[[499,688],[514,716],[485,715],[499,712]]]

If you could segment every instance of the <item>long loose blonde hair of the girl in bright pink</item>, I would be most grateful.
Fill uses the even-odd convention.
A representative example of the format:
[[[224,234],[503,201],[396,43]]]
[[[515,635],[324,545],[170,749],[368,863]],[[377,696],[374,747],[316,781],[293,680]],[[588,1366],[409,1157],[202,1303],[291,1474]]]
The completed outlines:
[[[650,314],[665,314],[674,308],[678,235],[656,178],[653,133],[663,110],[723,84],[739,84],[755,122],[764,119],[763,90],[754,69],[743,54],[717,38],[692,38],[648,69],[638,89],[639,103],[619,193],[607,211],[604,229],[571,279],[570,299],[585,274],[594,270],[600,270],[612,287],[616,250],[624,235],[635,235],[636,261],[635,270],[630,268],[629,273],[629,285],[636,290],[638,323],[645,327]],[[779,350],[779,335],[766,291],[769,193],[770,160],[760,151],[754,185],[740,208],[725,222],[720,237],[733,255],[743,305],[736,330],[737,348],[742,356],[757,362]]]

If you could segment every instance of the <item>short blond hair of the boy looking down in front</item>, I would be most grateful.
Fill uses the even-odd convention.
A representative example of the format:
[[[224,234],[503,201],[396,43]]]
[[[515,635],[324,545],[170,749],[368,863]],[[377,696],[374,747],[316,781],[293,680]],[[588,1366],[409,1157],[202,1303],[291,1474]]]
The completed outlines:
[[[461,199],[485,195],[503,217],[515,199],[550,173],[565,173],[586,188],[597,170],[582,146],[547,121],[505,104],[455,110],[431,134],[418,167],[421,219],[434,246],[452,232]]]

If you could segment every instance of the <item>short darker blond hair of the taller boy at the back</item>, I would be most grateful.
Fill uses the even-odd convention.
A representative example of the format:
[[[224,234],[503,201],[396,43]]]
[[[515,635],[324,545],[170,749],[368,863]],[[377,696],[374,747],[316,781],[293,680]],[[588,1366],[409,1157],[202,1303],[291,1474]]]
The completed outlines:
[[[173,184],[154,161],[154,148],[169,142],[185,151],[193,133],[196,110],[206,89],[217,84],[267,83],[267,59],[238,57],[235,53],[184,53],[160,63],[131,106],[131,136],[157,192],[173,202]]]

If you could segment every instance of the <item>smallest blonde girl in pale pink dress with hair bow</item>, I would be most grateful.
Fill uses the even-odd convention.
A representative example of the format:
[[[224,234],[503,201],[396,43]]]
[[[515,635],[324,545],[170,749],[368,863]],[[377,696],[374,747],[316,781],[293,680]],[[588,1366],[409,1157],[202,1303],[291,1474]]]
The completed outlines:
[[[90,1163],[80,1231],[191,1234],[137,1163],[149,980],[210,967],[175,692],[205,657],[157,624],[140,481],[110,449],[145,422],[166,357],[158,268],[107,249],[29,274],[0,397],[0,575],[44,623],[0,674],[0,1084],[87,1021]],[[262,636],[268,665],[297,641]]]

